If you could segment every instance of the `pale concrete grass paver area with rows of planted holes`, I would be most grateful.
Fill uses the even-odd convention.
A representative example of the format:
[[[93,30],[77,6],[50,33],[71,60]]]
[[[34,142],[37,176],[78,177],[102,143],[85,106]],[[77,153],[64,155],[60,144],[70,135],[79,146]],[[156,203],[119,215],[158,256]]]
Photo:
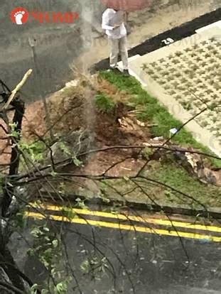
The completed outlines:
[[[147,91],[187,125],[195,139],[221,156],[221,29],[218,26],[129,62]],[[176,126],[174,126],[176,127]]]

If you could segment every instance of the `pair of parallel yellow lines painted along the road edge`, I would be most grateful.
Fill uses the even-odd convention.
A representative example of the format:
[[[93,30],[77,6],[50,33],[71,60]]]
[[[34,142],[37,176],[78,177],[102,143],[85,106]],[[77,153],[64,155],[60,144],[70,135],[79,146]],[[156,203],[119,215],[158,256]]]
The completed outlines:
[[[58,207],[54,205],[43,205],[43,209],[51,210],[53,212],[62,212],[63,207]],[[69,210],[70,208],[68,208]],[[176,230],[171,229],[156,229],[150,227],[140,227],[137,224],[120,224],[116,222],[104,222],[103,220],[92,220],[92,219],[83,219],[77,217],[78,214],[90,215],[92,217],[102,217],[102,218],[111,218],[129,222],[142,222],[143,224],[158,224],[166,227],[176,227],[176,228],[185,228],[185,229],[195,229],[207,232],[215,232],[221,233],[221,227],[215,226],[207,226],[203,224],[191,224],[189,222],[178,222],[178,221],[170,221],[166,219],[154,219],[149,217],[136,217],[133,215],[126,216],[124,214],[113,214],[110,212],[99,212],[99,211],[92,211],[89,209],[78,209],[72,208],[70,212],[76,214],[76,217],[64,217],[59,215],[52,215],[50,214],[50,219],[53,219],[58,222],[71,222],[75,224],[90,224],[96,227],[107,227],[112,229],[122,229],[127,231],[134,231],[134,232],[143,232],[147,234],[159,234],[165,236],[180,236],[183,238],[190,238],[190,239],[205,239],[208,241],[215,241],[221,242],[221,236],[210,236],[207,234],[198,234],[193,232],[179,232]],[[33,217],[36,219],[44,219],[45,216],[41,213],[37,212],[26,212],[27,217]]]

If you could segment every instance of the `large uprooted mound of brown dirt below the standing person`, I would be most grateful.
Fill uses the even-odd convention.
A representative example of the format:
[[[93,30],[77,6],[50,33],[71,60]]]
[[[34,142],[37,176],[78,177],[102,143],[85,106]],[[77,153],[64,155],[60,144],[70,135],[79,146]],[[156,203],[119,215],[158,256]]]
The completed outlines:
[[[116,106],[104,113],[95,106],[97,92],[107,94]],[[108,82],[97,87],[70,87],[48,99],[48,109],[53,131],[64,134],[69,131],[88,129],[95,134],[95,144],[100,146],[139,145],[149,140],[149,131],[145,126],[136,124],[131,107],[126,106],[126,94],[120,94]],[[127,97],[128,99],[128,97]],[[127,120],[127,125],[121,124]]]

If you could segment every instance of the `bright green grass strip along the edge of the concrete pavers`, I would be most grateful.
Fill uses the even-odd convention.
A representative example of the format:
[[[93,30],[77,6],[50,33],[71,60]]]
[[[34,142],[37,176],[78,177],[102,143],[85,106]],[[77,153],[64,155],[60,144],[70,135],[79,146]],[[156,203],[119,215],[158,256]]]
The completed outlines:
[[[142,107],[142,110],[138,114],[138,119],[157,124],[157,126],[152,128],[153,136],[169,138],[170,129],[179,129],[180,126],[183,125],[181,121],[175,119],[165,107],[159,104],[156,98],[151,97],[151,95],[141,87],[141,84],[134,77],[124,77],[124,75],[107,71],[99,72],[99,77],[108,80],[119,90],[129,94],[131,97],[129,102],[131,104]],[[192,146],[203,153],[212,155],[209,148],[195,141],[193,135],[185,128],[181,129],[178,134],[174,136],[173,142],[186,147]],[[221,168],[221,160],[210,158],[210,162],[216,168]]]

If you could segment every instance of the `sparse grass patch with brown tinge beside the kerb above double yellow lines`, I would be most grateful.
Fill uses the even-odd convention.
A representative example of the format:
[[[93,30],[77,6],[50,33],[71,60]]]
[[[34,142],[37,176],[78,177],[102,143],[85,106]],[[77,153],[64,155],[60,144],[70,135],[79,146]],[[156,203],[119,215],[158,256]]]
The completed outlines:
[[[145,176],[164,185],[166,184],[188,197],[149,180],[139,181],[138,183],[146,192],[145,194],[142,190],[137,189],[133,182],[126,179],[108,180],[109,185],[102,187],[104,197],[122,201],[120,195],[124,195],[124,200],[129,202],[143,202],[153,205],[153,201],[155,201],[158,205],[185,206],[192,209],[203,209],[202,205],[221,207],[220,187],[201,183],[176,163],[152,161],[149,165],[149,170],[145,172]],[[110,187],[114,187],[114,190]]]

